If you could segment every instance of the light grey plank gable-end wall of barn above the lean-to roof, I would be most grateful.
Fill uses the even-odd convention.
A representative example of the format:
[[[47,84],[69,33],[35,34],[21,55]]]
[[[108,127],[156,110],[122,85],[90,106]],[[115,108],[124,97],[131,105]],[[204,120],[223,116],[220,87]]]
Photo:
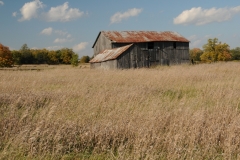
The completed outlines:
[[[94,56],[99,54],[105,49],[111,49],[112,48],[112,43],[111,41],[106,38],[102,33],[100,33],[95,45],[94,45]]]

